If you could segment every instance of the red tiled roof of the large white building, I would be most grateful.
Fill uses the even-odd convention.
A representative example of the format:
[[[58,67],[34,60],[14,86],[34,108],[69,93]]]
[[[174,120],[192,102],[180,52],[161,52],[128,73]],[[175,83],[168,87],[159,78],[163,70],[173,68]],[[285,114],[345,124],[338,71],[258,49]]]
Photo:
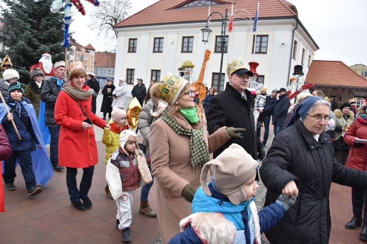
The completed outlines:
[[[115,24],[115,27],[133,26],[133,25],[148,25],[162,23],[177,23],[191,21],[206,21],[208,16],[208,7],[197,8],[177,8],[191,0],[160,0],[149,7],[141,10],[135,15],[122,20]],[[218,11],[222,14],[225,9],[228,9],[230,16],[231,2],[234,3],[234,9],[246,9],[250,12],[252,19],[255,16],[257,9],[257,1],[255,0],[216,0],[225,5],[211,6],[210,11]],[[297,9],[294,5],[286,0],[267,0],[260,2],[258,18],[269,17],[298,17]],[[220,15],[214,14],[212,20],[221,19]]]

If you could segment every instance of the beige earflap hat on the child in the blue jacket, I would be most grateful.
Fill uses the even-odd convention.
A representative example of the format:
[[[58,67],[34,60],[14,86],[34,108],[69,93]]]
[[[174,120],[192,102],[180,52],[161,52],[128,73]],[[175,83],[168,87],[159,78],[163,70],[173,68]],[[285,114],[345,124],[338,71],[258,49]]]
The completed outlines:
[[[214,167],[214,183],[220,193],[226,195],[229,201],[238,205],[246,201],[243,185],[256,174],[259,166],[242,146],[231,144],[216,159],[206,163],[200,176],[200,184],[207,196],[211,196],[206,184],[206,176],[210,166]]]

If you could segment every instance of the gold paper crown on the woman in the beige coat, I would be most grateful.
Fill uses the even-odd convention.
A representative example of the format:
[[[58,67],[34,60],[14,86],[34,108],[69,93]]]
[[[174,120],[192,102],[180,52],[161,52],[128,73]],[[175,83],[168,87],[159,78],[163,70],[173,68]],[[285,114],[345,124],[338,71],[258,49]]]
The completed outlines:
[[[169,77],[163,77],[164,84],[158,85],[156,95],[169,105],[173,105],[188,81],[173,72],[168,75]]]

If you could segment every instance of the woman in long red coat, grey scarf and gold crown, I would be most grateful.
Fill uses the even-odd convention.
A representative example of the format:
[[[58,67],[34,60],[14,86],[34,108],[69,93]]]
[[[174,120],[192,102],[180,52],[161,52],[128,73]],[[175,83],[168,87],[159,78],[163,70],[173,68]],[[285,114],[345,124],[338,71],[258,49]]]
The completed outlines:
[[[88,192],[92,185],[94,164],[98,163],[97,145],[92,123],[98,127],[110,125],[91,112],[93,89],[84,84],[87,76],[83,64],[70,63],[69,82],[63,86],[55,104],[55,121],[60,127],[59,165],[65,166],[70,201],[78,210],[92,207]],[[83,168],[79,190],[77,168]],[[82,199],[83,203],[80,202]]]

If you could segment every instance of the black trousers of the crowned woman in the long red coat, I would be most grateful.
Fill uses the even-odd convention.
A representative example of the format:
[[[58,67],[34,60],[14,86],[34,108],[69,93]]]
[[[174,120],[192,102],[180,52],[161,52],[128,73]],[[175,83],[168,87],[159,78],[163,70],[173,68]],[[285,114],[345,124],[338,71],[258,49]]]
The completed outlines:
[[[71,203],[80,201],[81,198],[88,197],[89,189],[91,189],[94,165],[83,168],[83,176],[80,181],[79,190],[76,185],[76,174],[78,168],[66,167],[66,185],[68,186]]]

